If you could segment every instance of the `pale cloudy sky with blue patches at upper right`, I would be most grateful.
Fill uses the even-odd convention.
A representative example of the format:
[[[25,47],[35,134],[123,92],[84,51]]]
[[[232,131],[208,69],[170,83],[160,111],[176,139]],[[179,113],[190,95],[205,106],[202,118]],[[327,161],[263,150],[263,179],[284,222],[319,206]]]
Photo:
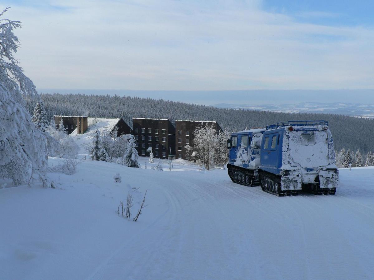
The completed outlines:
[[[1,3],[37,88],[374,88],[371,1]]]

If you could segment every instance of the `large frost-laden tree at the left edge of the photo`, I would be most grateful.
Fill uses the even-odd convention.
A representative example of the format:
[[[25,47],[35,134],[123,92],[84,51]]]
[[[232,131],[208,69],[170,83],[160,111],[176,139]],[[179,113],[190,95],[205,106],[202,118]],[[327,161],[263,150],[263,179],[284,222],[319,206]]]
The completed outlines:
[[[14,185],[39,178],[43,186],[53,187],[46,177],[46,137],[31,121],[22,98],[37,97],[37,91],[13,57],[19,47],[13,29],[19,27],[19,21],[0,19],[0,178]]]

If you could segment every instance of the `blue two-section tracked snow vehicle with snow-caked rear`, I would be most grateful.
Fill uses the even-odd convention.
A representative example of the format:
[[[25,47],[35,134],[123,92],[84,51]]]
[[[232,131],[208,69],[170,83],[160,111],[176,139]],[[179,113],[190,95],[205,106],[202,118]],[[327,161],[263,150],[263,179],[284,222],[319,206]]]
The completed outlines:
[[[335,194],[339,175],[327,121],[289,121],[233,133],[227,141],[234,183],[278,196],[301,189]]]

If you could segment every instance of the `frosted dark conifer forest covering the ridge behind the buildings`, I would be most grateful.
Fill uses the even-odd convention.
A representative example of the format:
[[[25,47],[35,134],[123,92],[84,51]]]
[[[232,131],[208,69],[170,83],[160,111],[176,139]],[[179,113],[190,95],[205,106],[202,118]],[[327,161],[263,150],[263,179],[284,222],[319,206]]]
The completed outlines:
[[[123,118],[130,127],[132,118],[167,118],[217,121],[230,132],[265,127],[282,121],[326,120],[334,137],[335,150],[351,149],[367,153],[374,150],[374,120],[321,113],[278,113],[242,109],[223,109],[163,99],[85,94],[41,94],[48,117],[86,115],[97,118]],[[214,100],[212,100],[213,102]],[[237,100],[235,101],[237,102]],[[36,100],[27,99],[32,114]]]

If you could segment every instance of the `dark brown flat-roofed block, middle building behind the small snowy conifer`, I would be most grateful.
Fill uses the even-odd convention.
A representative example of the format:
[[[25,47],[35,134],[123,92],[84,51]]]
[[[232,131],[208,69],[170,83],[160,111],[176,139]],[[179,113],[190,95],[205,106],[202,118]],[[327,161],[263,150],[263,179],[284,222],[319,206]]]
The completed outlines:
[[[132,130],[140,156],[148,156],[152,147],[155,158],[174,157],[175,127],[168,119],[132,118]]]

